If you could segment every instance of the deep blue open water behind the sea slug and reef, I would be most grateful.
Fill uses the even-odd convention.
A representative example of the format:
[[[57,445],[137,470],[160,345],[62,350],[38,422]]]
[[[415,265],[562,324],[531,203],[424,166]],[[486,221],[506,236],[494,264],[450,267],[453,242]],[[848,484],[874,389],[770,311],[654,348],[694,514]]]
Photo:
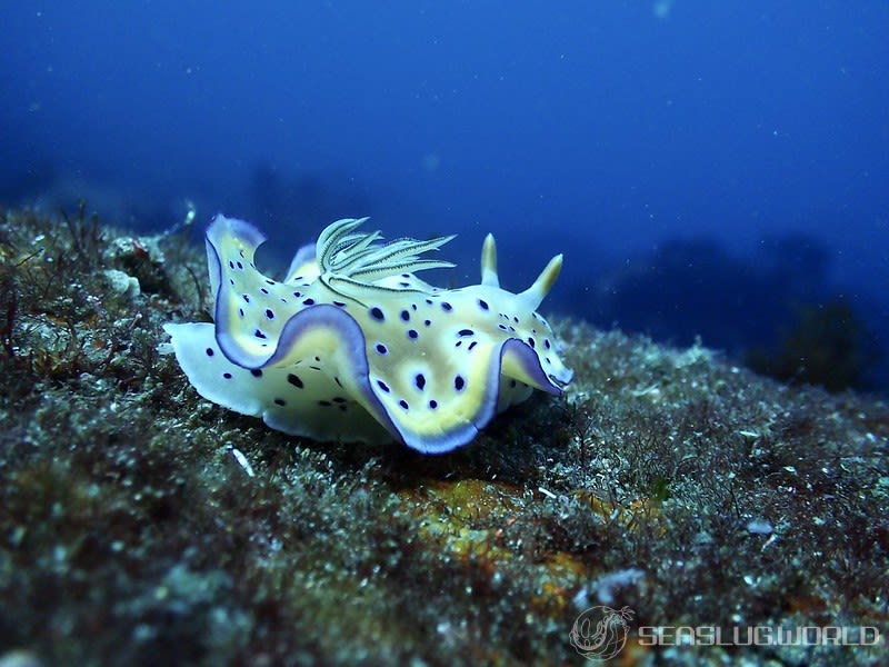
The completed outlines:
[[[388,237],[459,233],[455,285],[478,280],[493,231],[513,290],[565,252],[547,312],[800,369],[822,346],[855,359],[849,386],[889,386],[889,3],[96,0],[2,17],[3,205],[86,198],[160,231],[190,201],[201,226],[254,221],[282,265],[369,215]]]

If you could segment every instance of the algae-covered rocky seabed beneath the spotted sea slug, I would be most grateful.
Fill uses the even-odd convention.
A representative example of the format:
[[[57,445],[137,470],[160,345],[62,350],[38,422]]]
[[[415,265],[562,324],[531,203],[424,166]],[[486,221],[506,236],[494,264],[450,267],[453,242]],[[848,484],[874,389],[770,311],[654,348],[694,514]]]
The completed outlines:
[[[203,265],[83,209],[2,215],[0,659],[582,664],[568,633],[599,604],[887,629],[885,404],[556,319],[566,399],[466,449],[303,441],[202,400],[163,354],[164,322],[209,319]],[[623,654],[656,656],[886,647]]]

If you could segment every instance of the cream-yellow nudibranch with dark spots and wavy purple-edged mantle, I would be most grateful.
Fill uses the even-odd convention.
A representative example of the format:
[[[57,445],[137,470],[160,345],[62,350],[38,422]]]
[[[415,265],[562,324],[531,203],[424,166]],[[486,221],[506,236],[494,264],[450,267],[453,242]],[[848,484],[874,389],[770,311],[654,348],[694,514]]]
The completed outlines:
[[[470,442],[532,389],[561,395],[572,372],[538,312],[562,265],[520,293],[500,288],[493,237],[481,283],[442,289],[416,272],[453,237],[382,242],[367,218],[327,227],[282,281],[253,262],[266,237],[217,216],[207,230],[214,323],[164,327],[198,394],[314,440],[400,440],[427,454]]]

